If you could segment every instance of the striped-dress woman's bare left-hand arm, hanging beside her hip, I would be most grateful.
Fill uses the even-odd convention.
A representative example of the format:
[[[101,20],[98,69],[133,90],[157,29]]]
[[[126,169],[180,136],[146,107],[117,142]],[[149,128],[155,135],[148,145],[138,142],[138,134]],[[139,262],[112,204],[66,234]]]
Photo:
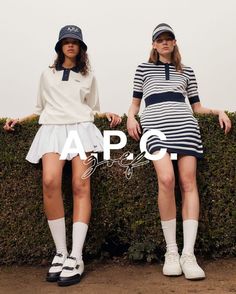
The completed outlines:
[[[127,119],[128,133],[136,141],[140,139],[140,135],[142,133],[140,125],[135,119],[135,115],[139,113],[140,105],[141,105],[141,99],[133,98],[132,104],[130,105],[130,108],[128,111],[128,119]]]

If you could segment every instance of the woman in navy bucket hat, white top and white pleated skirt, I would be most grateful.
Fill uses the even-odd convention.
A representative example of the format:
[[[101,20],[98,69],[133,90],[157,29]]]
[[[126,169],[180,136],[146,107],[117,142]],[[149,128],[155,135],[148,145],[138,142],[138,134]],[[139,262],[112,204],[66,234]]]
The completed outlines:
[[[69,131],[76,130],[87,155],[103,150],[103,137],[94,125],[94,115],[107,117],[110,127],[121,122],[113,113],[100,113],[97,82],[89,69],[87,46],[81,29],[67,25],[60,30],[55,46],[57,59],[41,75],[34,114],[21,119],[8,119],[6,131],[14,125],[39,116],[42,125],[26,159],[38,163],[42,158],[43,200],[48,225],[56,246],[56,255],[47,273],[47,281],[59,286],[78,283],[84,271],[82,249],[91,215],[90,179],[81,176],[88,168],[78,154],[68,154],[72,162],[73,235],[72,251],[68,255],[64,206],[61,194],[60,160]]]

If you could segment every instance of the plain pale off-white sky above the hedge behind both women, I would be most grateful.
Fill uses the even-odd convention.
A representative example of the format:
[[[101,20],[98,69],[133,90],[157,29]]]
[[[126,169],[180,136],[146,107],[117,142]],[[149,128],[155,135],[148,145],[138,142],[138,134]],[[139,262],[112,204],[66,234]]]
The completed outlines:
[[[42,70],[53,62],[59,29],[82,28],[99,82],[102,111],[127,112],[133,75],[146,61],[161,22],[177,37],[183,62],[195,70],[202,104],[236,111],[234,0],[41,0],[1,4],[0,117],[34,109]]]

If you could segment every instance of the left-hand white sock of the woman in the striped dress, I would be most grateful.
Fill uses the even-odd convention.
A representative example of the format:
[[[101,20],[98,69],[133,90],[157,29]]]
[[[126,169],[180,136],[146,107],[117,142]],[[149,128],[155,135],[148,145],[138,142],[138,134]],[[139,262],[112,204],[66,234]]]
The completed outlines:
[[[176,219],[161,221],[161,226],[166,241],[166,251],[178,253],[176,244]]]

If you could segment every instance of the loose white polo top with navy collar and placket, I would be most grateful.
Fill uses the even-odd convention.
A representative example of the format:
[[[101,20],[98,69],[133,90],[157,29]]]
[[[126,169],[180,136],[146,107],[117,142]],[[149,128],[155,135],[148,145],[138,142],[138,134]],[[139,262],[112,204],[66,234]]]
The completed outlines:
[[[92,72],[84,76],[77,66],[43,71],[34,111],[40,115],[39,124],[94,121],[99,112],[97,81]]]

